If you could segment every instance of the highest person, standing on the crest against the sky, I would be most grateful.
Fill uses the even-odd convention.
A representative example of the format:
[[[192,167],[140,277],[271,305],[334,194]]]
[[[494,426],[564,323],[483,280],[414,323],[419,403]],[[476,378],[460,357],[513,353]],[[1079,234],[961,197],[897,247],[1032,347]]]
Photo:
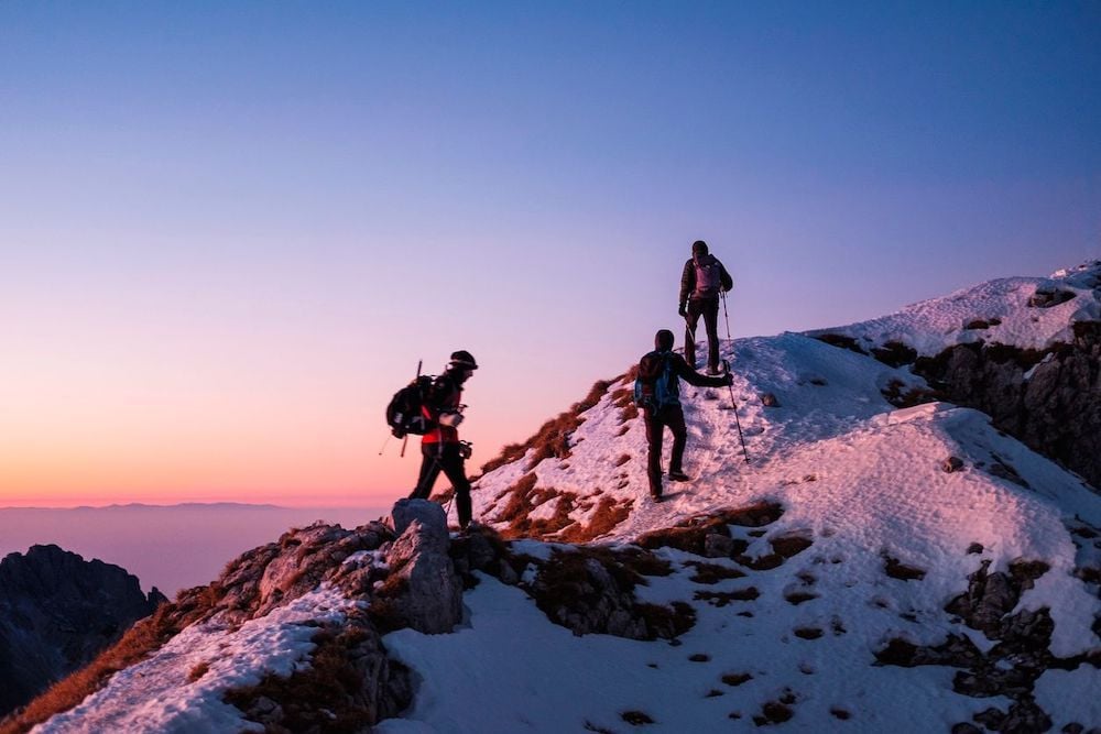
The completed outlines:
[[[685,319],[685,361],[696,369],[696,325],[707,328],[707,374],[719,374],[719,296],[734,287],[730,273],[707,251],[707,242],[691,244],[691,258],[680,274],[680,308]]]

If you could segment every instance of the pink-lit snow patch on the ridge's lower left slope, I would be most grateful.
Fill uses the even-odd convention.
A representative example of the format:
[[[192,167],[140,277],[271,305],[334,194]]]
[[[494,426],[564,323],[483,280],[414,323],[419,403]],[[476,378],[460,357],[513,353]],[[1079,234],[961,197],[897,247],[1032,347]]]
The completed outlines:
[[[173,637],[148,659],[116,673],[80,705],[34,727],[35,734],[263,731],[224,703],[230,688],[252,686],[269,672],[290,676],[306,665],[318,622],[339,623],[356,602],[320,587],[239,628],[216,615]],[[188,682],[199,665],[209,669]]]

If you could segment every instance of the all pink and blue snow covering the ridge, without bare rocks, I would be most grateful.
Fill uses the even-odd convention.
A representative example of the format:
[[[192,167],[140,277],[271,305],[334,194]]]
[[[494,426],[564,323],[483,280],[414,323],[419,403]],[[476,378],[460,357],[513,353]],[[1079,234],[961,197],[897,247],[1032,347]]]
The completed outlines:
[[[992,281],[822,332],[847,333],[864,348],[903,341],[928,355],[980,338],[1043,349],[1069,340],[1075,320],[1099,318],[1099,281],[1101,263],[1050,278]],[[1076,297],[1050,308],[1029,307],[1038,286]],[[999,322],[964,328],[975,319]],[[984,562],[990,571],[1005,571],[1017,560],[1046,563],[1049,570],[1022,594],[1015,611],[1050,610],[1050,649],[1057,656],[1101,646],[1092,631],[1101,615],[1097,588],[1073,573],[1076,563],[1095,565],[1101,551],[1083,540],[1090,536],[1070,532],[1101,526],[1101,495],[1080,478],[999,432],[975,410],[941,403],[895,409],[882,391],[895,383],[923,387],[919,377],[811,335],[723,342],[722,355],[734,371],[730,391],[683,386],[685,469],[694,481],[667,486],[665,502],[648,500],[643,421],[624,424],[612,397],[631,387],[621,382],[582,414],[567,459],[528,469],[530,452],[477,480],[475,515],[504,526],[498,515],[508,491],[532,471],[537,487],[590,500],[574,504],[570,517],[581,525],[592,518],[598,496],[630,503],[630,515],[600,538],[603,543],[629,544],[647,530],[718,508],[774,502],[784,510],[776,522],[731,528],[749,541],[748,555],[768,554],[771,539],[793,533],[809,538],[810,547],[766,571],[707,559],[745,573],[710,585],[693,581],[689,562],[701,559],[658,550],[674,573],[648,579],[636,595],[695,609],[695,625],[674,643],[575,636],[552,624],[522,590],[483,576],[466,593],[467,616],[454,633],[403,629],[384,637],[391,654],[415,672],[417,688],[411,710],[377,731],[623,732],[633,728],[624,719],[630,712],[653,720],[645,731],[726,731],[753,726],[766,702],[785,697],[794,699],[793,717],[778,725],[787,732],[948,731],[1011,702],[953,692],[955,669],[876,666],[874,654],[892,638],[931,645],[950,634],[990,650],[994,640],[945,612]],[[763,393],[774,394],[778,406],[765,407]],[[729,409],[731,395],[749,463]],[[961,459],[962,468],[946,472],[949,457]],[[998,464],[1011,467],[1027,486],[992,473]],[[559,502],[549,499],[532,517],[553,517]],[[553,536],[544,540],[517,541],[513,551],[546,560],[570,549]],[[980,552],[974,544],[981,544]],[[381,554],[363,559],[383,560]],[[925,576],[892,578],[887,559]],[[522,578],[531,581],[533,574],[528,567]],[[701,591],[750,587],[759,595],[749,601],[719,605],[697,599]],[[796,593],[807,598],[791,601]],[[239,629],[217,620],[188,628],[39,730],[249,731],[239,712],[221,703],[222,692],[255,682],[265,671],[286,675],[308,664],[314,627],[307,624],[338,622],[350,603],[321,588]],[[804,629],[821,634],[806,639],[796,634]],[[209,671],[187,683],[200,662]],[[731,673],[751,678],[724,682]],[[1099,688],[1098,670],[1081,665],[1046,672],[1035,692],[1058,731],[1069,722],[1101,725]]]

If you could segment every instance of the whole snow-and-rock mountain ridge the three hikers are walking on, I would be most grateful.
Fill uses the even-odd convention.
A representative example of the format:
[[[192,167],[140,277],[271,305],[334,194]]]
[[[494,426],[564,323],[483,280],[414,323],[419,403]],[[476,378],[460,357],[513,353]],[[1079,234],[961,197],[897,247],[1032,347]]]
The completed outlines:
[[[661,503],[633,373],[598,382],[487,465],[479,530],[288,533],[3,731],[1101,727],[1099,322],[1093,262],[724,343]]]

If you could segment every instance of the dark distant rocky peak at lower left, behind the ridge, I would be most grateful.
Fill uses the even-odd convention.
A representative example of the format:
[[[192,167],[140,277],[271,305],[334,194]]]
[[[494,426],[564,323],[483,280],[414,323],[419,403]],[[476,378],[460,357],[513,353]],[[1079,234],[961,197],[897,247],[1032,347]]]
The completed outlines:
[[[157,604],[118,566],[57,546],[0,561],[0,715],[85,665]]]

